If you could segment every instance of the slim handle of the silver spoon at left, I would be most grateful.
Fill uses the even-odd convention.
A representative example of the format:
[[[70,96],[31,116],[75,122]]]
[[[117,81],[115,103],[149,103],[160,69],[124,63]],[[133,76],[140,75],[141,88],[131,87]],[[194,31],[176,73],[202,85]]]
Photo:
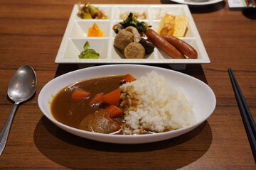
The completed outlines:
[[[9,132],[11,129],[11,123],[14,120],[14,115],[16,113],[16,110],[18,108],[18,103],[14,103],[13,108],[11,109],[11,113],[9,117],[6,120],[6,123],[4,124],[4,127],[2,128],[0,132],[0,156],[2,152],[4,151],[4,147],[6,146],[7,138],[9,136]]]

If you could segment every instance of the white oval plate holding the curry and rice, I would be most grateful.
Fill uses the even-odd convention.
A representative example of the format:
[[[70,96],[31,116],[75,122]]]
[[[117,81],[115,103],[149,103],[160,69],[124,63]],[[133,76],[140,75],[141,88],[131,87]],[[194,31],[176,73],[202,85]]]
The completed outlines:
[[[188,98],[190,101],[193,101],[193,112],[196,115],[195,124],[178,130],[149,135],[110,135],[71,128],[68,125],[59,123],[50,113],[50,102],[52,101],[53,96],[55,96],[55,94],[57,94],[58,91],[63,89],[65,86],[73,84],[77,81],[82,81],[84,79],[90,79],[92,77],[103,77],[107,75],[127,73],[132,74],[135,78],[139,79],[139,77],[146,75],[146,73],[151,72],[152,70],[154,70],[157,74],[164,76],[169,84],[172,84],[174,87],[178,86],[181,88],[186,98]],[[206,119],[213,113],[215,105],[215,94],[207,84],[203,83],[203,81],[170,69],[137,64],[104,65],[88,67],[85,69],[79,69],[74,72],[69,72],[49,81],[48,84],[43,87],[38,96],[39,108],[41,108],[43,114],[46,115],[46,117],[59,128],[62,128],[63,130],[72,133],[73,135],[85,137],[90,140],[118,144],[140,144],[157,142],[183,135],[206,121]]]

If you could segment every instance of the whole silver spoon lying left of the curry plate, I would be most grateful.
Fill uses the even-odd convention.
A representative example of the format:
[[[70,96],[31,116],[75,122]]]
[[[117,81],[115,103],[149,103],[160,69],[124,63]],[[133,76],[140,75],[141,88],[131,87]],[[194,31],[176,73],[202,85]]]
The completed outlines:
[[[24,101],[27,101],[36,92],[36,73],[29,65],[23,65],[14,74],[9,83],[7,94],[14,106],[11,109],[11,113],[4,124],[3,129],[0,132],[0,156],[6,146],[6,141],[10,132],[11,123],[14,120],[14,115],[18,108],[18,105]]]

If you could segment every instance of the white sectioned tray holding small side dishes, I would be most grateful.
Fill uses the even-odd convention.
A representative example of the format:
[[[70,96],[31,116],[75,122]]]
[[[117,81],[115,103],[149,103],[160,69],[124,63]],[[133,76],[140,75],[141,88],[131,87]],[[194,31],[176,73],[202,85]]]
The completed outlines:
[[[65,30],[63,40],[60,44],[55,63],[58,64],[114,64],[114,63],[129,63],[129,64],[170,64],[174,69],[184,69],[186,64],[203,64],[210,63],[210,59],[203,45],[201,37],[193,21],[191,12],[187,5],[184,4],[92,4],[105,11],[108,16],[107,20],[102,19],[82,19],[79,18],[78,5],[75,5],[68,21],[68,26]],[[120,13],[126,11],[135,11],[139,13],[146,12],[147,18],[143,20],[157,30],[161,18],[164,13],[171,15],[184,15],[189,19],[188,30],[185,37],[181,38],[193,46],[198,52],[198,59],[172,59],[165,52],[154,49],[150,55],[144,59],[125,59],[122,52],[119,52],[114,45],[114,37],[116,33],[112,30],[114,24],[119,23],[122,19],[119,18]],[[97,23],[100,30],[103,31],[104,36],[101,38],[87,37],[88,28],[92,27],[93,23]],[[88,41],[90,48],[94,49],[100,54],[98,59],[80,59],[78,55],[83,51],[83,45]]]

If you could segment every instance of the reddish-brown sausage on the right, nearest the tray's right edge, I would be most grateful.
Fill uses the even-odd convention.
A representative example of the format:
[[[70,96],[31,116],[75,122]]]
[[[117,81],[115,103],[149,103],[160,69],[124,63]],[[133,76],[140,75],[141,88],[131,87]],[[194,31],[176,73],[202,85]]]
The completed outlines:
[[[174,47],[176,47],[178,50],[180,50],[183,55],[188,56],[189,58],[196,59],[198,57],[196,50],[191,47],[187,42],[178,39],[171,35],[164,35],[161,34],[161,36],[166,39],[168,42],[170,42]]]

